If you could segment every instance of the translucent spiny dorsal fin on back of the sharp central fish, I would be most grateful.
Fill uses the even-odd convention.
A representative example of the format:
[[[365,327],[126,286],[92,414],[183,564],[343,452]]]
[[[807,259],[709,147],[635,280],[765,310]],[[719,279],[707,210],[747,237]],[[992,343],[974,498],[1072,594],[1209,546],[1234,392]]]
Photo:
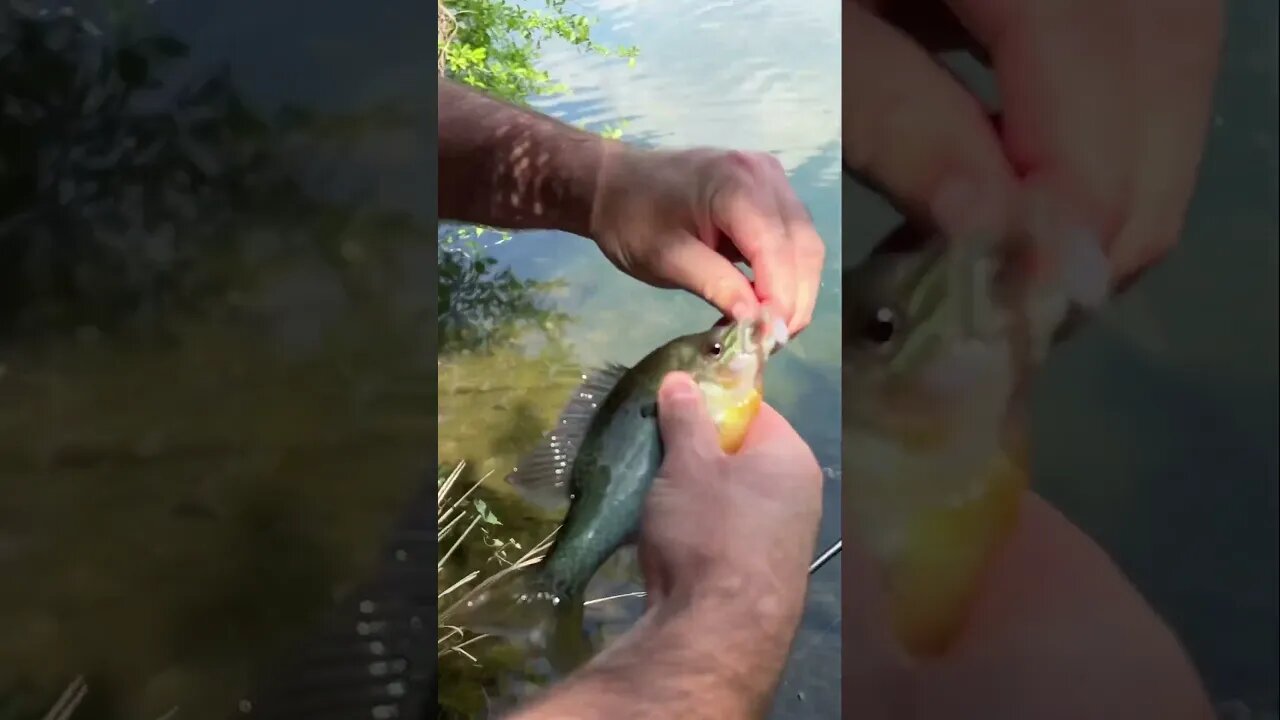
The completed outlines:
[[[604,397],[628,369],[611,363],[582,375],[582,383],[573,389],[556,425],[512,470],[507,482],[538,505],[557,506],[567,502],[570,470],[586,428]]]

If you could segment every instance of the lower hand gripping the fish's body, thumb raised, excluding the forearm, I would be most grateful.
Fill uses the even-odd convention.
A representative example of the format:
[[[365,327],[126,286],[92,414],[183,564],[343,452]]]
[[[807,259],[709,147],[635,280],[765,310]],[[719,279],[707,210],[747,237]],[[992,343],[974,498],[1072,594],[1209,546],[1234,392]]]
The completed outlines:
[[[726,455],[701,395],[682,373],[658,393],[666,459],[640,529],[650,603],[708,593],[753,597],[799,621],[822,515],[822,470],[768,405]]]

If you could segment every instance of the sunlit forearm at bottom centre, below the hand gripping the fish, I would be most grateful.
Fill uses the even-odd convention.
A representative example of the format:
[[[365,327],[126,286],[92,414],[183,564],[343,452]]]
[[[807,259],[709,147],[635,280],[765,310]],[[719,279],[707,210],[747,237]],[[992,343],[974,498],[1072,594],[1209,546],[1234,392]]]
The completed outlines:
[[[721,594],[650,609],[635,628],[511,720],[762,717],[790,652],[800,602]]]

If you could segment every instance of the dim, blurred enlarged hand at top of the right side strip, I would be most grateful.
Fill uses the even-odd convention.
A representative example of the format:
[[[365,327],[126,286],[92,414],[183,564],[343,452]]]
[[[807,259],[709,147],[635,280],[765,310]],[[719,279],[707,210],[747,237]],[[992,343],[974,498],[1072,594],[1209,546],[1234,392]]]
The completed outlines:
[[[1221,8],[1175,0],[846,3],[846,161],[947,234],[1091,238],[1124,284],[1181,232]],[[1002,115],[929,53],[995,70]],[[893,68],[886,72],[884,68]]]

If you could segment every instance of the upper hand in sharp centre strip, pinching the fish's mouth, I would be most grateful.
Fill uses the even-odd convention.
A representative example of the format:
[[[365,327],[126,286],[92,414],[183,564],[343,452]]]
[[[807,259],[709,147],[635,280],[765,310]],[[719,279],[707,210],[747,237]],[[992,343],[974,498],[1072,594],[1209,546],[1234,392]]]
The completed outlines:
[[[733,319],[768,304],[794,336],[813,318],[826,247],[772,155],[617,143],[590,234],[628,275],[690,291]]]

